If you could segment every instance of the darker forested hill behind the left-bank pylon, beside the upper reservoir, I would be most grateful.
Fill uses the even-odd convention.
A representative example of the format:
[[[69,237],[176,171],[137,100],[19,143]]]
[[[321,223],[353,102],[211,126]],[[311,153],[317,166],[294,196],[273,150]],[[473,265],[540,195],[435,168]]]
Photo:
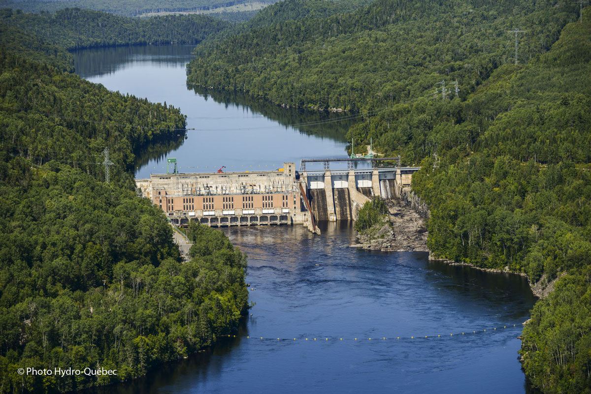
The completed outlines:
[[[0,135],[9,155],[99,174],[97,155],[109,146],[113,173],[124,176],[137,149],[184,130],[178,109],[112,93],[27,54],[0,52]]]

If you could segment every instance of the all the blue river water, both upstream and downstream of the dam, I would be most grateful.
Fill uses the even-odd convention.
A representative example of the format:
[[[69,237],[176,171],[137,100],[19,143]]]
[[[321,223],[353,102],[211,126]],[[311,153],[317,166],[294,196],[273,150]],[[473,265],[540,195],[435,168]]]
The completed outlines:
[[[163,172],[163,157],[177,157],[181,170],[192,171],[345,154],[348,121],[301,126],[343,114],[285,110],[187,87],[189,47],[75,55],[83,77],[181,107],[187,127],[198,129],[182,144],[139,154],[138,177]],[[517,354],[521,323],[535,302],[525,278],[428,261],[426,253],[349,248],[351,224],[321,225],[321,236],[302,226],[223,229],[248,255],[247,283],[256,289],[249,292],[252,316],[236,337],[97,391],[531,392]]]

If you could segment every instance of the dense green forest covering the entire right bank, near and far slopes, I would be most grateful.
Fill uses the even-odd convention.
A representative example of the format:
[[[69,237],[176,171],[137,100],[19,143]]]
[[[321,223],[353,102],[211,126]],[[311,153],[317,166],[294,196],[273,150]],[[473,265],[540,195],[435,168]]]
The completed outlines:
[[[545,393],[589,393],[591,9],[578,11],[378,0],[270,24],[261,12],[197,47],[188,81],[363,115],[348,139],[421,165],[435,257],[556,280],[525,325],[523,367]]]

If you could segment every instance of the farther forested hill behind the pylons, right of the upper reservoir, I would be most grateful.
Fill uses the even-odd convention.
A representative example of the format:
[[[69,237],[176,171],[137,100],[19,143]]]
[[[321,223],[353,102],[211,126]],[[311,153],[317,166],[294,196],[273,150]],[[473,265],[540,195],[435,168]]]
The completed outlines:
[[[297,15],[298,2],[281,5]],[[527,29],[519,48],[528,61],[576,18],[576,7],[550,0],[379,0],[350,14],[284,22],[270,9],[246,22],[248,31],[197,47],[187,81],[276,104],[372,114],[431,96],[443,79],[457,78],[466,97],[494,68],[514,60],[508,30]]]

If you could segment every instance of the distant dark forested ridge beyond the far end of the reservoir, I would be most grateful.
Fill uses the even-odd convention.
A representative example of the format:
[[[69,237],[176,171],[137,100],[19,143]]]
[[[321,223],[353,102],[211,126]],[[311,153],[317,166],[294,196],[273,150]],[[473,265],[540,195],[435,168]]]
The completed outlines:
[[[197,44],[207,35],[232,25],[206,15],[128,18],[80,8],[66,8],[55,14],[25,14],[4,8],[0,9],[0,22],[68,50],[109,45]]]

